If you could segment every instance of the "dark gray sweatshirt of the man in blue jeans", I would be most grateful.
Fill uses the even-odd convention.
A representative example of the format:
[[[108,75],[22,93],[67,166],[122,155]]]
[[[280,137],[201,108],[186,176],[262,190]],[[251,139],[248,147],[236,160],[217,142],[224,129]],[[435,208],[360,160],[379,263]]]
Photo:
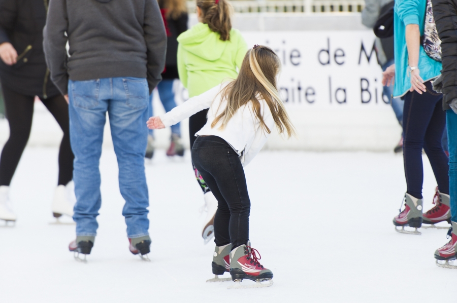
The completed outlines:
[[[51,0],[43,36],[64,95],[69,79],[147,78],[150,92],[161,80],[167,35],[156,0]]]

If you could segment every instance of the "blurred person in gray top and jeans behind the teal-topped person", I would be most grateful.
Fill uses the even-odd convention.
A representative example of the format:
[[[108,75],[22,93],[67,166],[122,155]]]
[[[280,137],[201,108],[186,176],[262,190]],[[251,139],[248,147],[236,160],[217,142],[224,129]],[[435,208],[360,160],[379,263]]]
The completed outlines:
[[[365,0],[365,8],[362,11],[362,24],[369,28],[373,28],[379,16],[387,12],[394,6],[394,1],[391,0]],[[385,71],[387,67],[394,64],[394,36],[375,40],[376,57],[378,63]],[[392,109],[394,109],[395,116],[398,123],[403,123],[403,105],[405,101],[402,98],[393,98],[394,87],[384,85],[382,89],[382,97],[384,100],[389,100]],[[395,153],[400,153],[403,150],[403,133],[394,148]]]

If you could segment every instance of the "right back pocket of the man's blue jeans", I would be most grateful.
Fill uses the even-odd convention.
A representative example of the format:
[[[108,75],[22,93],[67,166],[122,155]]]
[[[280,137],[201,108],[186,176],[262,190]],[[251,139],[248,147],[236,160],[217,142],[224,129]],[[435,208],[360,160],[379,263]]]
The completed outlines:
[[[144,78],[123,78],[127,106],[133,109],[143,109],[149,103],[148,82]]]

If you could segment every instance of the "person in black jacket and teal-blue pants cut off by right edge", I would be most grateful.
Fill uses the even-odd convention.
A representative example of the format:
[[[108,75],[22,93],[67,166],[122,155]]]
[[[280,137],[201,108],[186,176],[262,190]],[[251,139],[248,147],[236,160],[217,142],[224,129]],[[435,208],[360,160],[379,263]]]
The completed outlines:
[[[433,15],[438,36],[441,40],[441,76],[433,85],[443,94],[443,109],[446,110],[446,124],[449,147],[449,196],[451,228],[450,240],[435,251],[437,260],[455,259],[457,252],[457,2],[455,0],[433,0]],[[443,264],[438,263],[438,266]]]

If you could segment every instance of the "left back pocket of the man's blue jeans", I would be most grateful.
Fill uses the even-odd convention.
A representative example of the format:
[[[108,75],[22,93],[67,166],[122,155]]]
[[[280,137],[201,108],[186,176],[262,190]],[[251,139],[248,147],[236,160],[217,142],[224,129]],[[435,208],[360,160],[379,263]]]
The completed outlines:
[[[99,105],[100,79],[71,81],[71,88],[74,106],[91,109]]]

